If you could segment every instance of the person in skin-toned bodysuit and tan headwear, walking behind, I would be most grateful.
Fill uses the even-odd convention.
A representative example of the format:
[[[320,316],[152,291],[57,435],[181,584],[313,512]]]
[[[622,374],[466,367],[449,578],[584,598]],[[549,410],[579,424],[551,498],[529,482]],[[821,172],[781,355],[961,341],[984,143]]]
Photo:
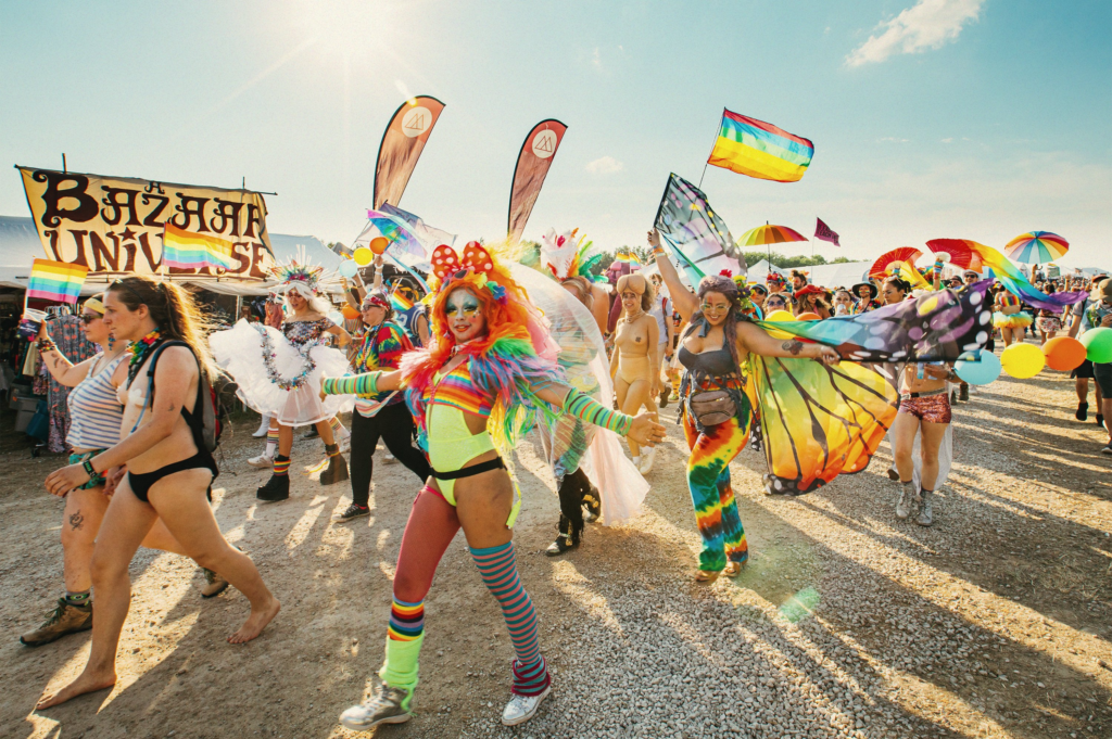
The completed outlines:
[[[659,327],[649,314],[653,308],[653,288],[644,276],[623,274],[618,278],[618,298],[622,312],[614,330],[614,353],[610,356],[610,377],[622,412],[634,416],[642,407],[656,412],[661,395],[661,338]],[[629,439],[633,463],[642,475],[653,469],[656,449],[642,449]]]

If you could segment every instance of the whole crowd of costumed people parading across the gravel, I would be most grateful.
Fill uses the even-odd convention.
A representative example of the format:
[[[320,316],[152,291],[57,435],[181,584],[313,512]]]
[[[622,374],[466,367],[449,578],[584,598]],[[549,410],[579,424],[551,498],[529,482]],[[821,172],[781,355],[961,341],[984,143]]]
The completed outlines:
[[[258,313],[249,311],[230,328],[209,324],[172,282],[126,277],[85,301],[85,333],[100,352],[77,364],[43,324],[38,350],[51,376],[72,388],[70,463],[46,482],[64,498],[66,595],[21,641],[40,647],[91,629],[92,649],[80,677],[43,696],[39,708],[115,685],[130,602],[128,566],[140,546],[192,558],[206,572],[202,597],[229,586],[244,592],[250,612],[230,642],[256,638],[278,615],[278,599],[250,558],[225,539],[210,507],[221,422],[212,388],[221,377],[262,417],[265,447],[248,460],[270,469],[256,493],[261,502],[290,498],[294,433],[306,427],[324,442],[320,483],[350,486],[351,502],[336,515],[338,522],[369,515],[379,441],[389,460],[416,477],[385,660],[371,697],[344,711],[340,722],[366,730],[411,717],[424,602],[461,529],[513,641],[503,713],[513,726],[535,716],[552,690],[513,541],[522,506],[513,449],[526,433],[539,435],[555,480],[560,517],[547,553],[560,556],[579,546],[586,522],[635,516],[648,490],[645,476],[672,472],[654,460],[665,438],[659,410],[675,401],[702,538],[694,579],[713,582],[737,576],[748,558],[731,483],[731,462],[747,446],[766,453],[770,491],[790,485],[802,493],[863,469],[887,435],[888,475],[898,483],[894,515],[903,520],[914,513],[916,523],[932,526],[934,491],[950,466],[952,405],[970,397],[954,372],[956,351],[992,351],[996,336],[1004,347],[1024,341],[1032,323],[1042,341],[1112,326],[1108,278],[1086,283],[1089,299],[1068,316],[1040,309],[1033,319],[1019,297],[974,271],[942,280],[936,266],[926,276],[930,294],[898,273],[834,288],[811,283],[802,270],[787,279],[771,272],[764,283],[722,273],[691,284],[656,231],[647,243],[655,256],[651,277],[622,274],[609,289],[579,272],[586,247],[575,231],[545,237],[538,270],[515,263],[508,249],[439,246],[430,254],[427,293],[423,281],[404,274],[385,280],[379,259],[370,284],[345,282],[342,324],[329,318],[322,270],[306,263],[281,264]],[[1044,279],[1037,287],[1051,293],[1079,286]],[[932,343],[932,331],[941,336],[936,327],[915,329],[913,339],[887,333],[875,340],[877,317],[896,320],[907,307],[926,314],[932,294],[946,296],[947,309],[957,311],[951,316],[973,326],[961,340],[935,337]],[[785,311],[795,320],[777,321]],[[824,333],[830,320],[873,336],[862,343],[867,357],[847,356],[844,339]],[[901,360],[912,343],[937,359]],[[1096,422],[1108,430],[1112,366],[1086,362],[1073,375],[1078,420],[1088,419],[1094,380]],[[787,465],[794,471],[784,472],[782,429],[798,422],[790,418],[788,401],[833,397],[842,392],[834,387],[838,377],[868,389],[862,403],[875,403],[877,412],[860,421],[852,439],[821,440],[823,459],[806,451],[814,446],[801,445],[804,451]],[[788,397],[788,386],[798,398]],[[347,429],[340,417],[349,412]],[[1103,451],[1112,453],[1112,438]],[[834,467],[830,459],[848,461]]]

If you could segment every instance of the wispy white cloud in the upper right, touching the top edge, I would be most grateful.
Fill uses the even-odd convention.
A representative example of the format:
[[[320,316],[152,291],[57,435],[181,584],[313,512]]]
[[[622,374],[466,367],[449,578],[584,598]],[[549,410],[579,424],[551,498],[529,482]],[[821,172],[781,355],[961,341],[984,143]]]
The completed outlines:
[[[876,27],[868,40],[846,57],[846,67],[881,62],[897,53],[920,53],[953,41],[975,21],[984,0],[920,0]]]

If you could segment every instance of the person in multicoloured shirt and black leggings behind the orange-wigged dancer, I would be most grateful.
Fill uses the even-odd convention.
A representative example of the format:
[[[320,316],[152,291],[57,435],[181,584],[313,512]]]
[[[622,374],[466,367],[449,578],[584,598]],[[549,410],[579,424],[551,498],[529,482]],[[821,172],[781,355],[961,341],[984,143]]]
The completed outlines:
[[[369,292],[363,299],[360,314],[367,327],[358,337],[351,360],[357,372],[397,369],[401,356],[413,350],[405,330],[391,319],[394,308],[383,292]],[[369,516],[370,478],[375,470],[375,447],[378,440],[394,458],[408,467],[421,481],[431,473],[428,461],[413,446],[414,417],[403,393],[379,392],[356,398],[351,413],[351,505],[334,518],[350,521]]]

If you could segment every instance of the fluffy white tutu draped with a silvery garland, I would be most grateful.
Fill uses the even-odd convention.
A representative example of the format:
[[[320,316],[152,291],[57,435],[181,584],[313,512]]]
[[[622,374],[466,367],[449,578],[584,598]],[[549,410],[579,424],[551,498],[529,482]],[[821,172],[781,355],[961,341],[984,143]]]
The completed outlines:
[[[239,386],[236,395],[240,400],[260,413],[275,417],[282,426],[317,423],[355,407],[354,396],[327,396],[320,400],[321,377],[340,377],[351,371],[342,351],[310,347],[306,353],[316,367],[305,375],[299,387],[284,390],[267,370],[264,332],[274,347],[271,361],[278,377],[295,380],[309,367],[306,357],[281,331],[240,319],[227,331],[216,331],[209,337],[212,357]]]

